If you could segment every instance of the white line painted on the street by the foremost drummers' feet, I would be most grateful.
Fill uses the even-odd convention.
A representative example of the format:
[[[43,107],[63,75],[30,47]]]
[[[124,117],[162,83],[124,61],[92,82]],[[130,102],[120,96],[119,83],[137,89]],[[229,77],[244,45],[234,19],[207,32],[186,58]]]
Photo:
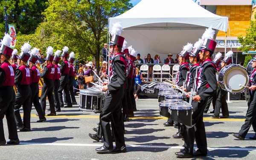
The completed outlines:
[[[41,146],[87,146],[87,147],[100,147],[100,146],[102,146],[102,144],[75,144],[75,143],[20,143],[20,144],[21,145],[41,145]],[[182,146],[126,145],[126,147],[183,149]],[[230,151],[256,151],[256,148],[225,148],[225,147],[215,147],[215,148],[213,148],[213,147],[208,147],[207,149],[209,149],[209,150],[230,150]]]

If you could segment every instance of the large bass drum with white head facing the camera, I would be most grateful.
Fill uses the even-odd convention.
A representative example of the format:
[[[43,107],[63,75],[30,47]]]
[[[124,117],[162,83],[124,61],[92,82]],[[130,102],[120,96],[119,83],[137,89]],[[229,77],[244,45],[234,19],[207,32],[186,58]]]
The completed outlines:
[[[219,72],[218,82],[223,90],[236,94],[246,90],[239,84],[247,86],[249,84],[249,74],[241,65],[227,65]]]

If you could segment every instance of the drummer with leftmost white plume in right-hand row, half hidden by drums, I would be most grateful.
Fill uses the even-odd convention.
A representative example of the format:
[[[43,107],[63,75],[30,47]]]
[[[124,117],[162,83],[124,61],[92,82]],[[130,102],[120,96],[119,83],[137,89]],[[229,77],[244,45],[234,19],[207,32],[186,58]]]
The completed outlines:
[[[177,86],[183,87],[183,82],[185,82],[187,77],[187,72],[189,71],[189,63],[187,60],[189,59],[189,53],[192,51],[193,45],[191,43],[187,43],[187,45],[183,46],[183,51],[178,54],[179,55],[179,62],[180,62],[180,68],[179,72],[177,73]],[[169,119],[169,118],[168,118]],[[173,124],[173,121],[171,121],[171,124]],[[173,138],[183,138],[181,135],[181,126],[180,123],[178,123],[179,131],[176,133],[176,135],[173,135]]]

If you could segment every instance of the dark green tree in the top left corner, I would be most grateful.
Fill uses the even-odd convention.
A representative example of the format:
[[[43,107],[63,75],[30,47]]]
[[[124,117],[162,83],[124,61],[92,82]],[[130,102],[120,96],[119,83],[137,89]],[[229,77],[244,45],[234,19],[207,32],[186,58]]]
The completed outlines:
[[[8,23],[14,24],[17,33],[32,34],[43,22],[42,12],[47,8],[48,0],[1,0],[0,1],[0,37],[5,32],[3,6],[7,8]]]

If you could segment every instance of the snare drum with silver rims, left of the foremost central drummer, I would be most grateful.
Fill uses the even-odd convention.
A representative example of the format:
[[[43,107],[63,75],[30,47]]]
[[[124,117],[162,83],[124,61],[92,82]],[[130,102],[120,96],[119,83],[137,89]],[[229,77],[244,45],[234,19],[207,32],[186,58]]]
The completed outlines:
[[[103,92],[98,90],[80,90],[79,94],[79,110],[99,112],[102,109]]]

